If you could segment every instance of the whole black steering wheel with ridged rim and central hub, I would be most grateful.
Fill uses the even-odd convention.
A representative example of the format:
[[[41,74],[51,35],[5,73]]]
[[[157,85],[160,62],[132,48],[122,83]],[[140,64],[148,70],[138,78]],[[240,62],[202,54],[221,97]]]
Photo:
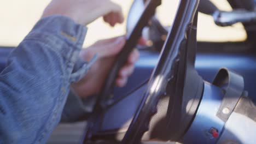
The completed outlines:
[[[161,1],[135,0],[135,3],[142,3],[144,10],[139,12],[141,15],[137,17],[138,20],[132,27],[132,31],[128,31],[126,44],[119,53],[106,80],[106,85],[97,99],[85,130],[84,143],[106,143],[106,140],[110,139],[111,136],[101,135],[98,131],[101,129],[102,115],[107,115],[108,107],[115,104],[112,95],[115,77],[126,62],[132,48],[136,46],[142,29],[147,26]],[[146,91],[141,97],[136,112],[133,113],[129,128],[125,130],[125,134],[121,138],[115,137],[121,143],[140,143],[144,133],[156,124],[159,113],[165,115],[165,129],[161,130],[163,133],[169,134],[162,137],[166,140],[179,140],[193,121],[203,89],[202,79],[194,69],[198,4],[198,0],[180,1],[158,65],[146,84]]]

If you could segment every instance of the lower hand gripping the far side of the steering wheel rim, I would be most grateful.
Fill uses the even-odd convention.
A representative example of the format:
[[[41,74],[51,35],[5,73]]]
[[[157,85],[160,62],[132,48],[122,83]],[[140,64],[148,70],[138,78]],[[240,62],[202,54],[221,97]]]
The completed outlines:
[[[140,40],[139,43],[144,44],[145,42],[144,40]],[[82,50],[80,57],[84,61],[90,61],[96,53],[98,59],[82,80],[72,84],[72,88],[80,97],[88,97],[89,95],[100,92],[109,70],[115,61],[115,57],[121,51],[124,44],[125,38],[117,37],[97,41],[94,45]],[[126,85],[127,79],[133,73],[134,64],[138,58],[139,52],[135,49],[127,59],[126,65],[118,73],[118,78],[115,81],[118,87],[124,87]]]

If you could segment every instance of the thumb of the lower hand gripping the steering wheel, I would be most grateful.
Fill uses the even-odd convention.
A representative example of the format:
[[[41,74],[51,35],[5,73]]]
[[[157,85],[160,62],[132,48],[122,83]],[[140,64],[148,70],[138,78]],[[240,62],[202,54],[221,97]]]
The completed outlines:
[[[100,47],[97,47],[98,56],[100,57],[112,57],[117,55],[125,45],[125,37],[116,37],[109,39],[106,43]]]

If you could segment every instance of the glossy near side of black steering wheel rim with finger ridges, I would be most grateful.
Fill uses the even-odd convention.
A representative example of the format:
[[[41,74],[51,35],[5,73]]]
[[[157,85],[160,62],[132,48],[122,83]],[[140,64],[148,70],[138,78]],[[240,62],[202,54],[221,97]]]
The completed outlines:
[[[157,112],[156,106],[158,105],[158,100],[162,95],[168,95],[168,93],[166,93],[166,88],[168,85],[170,85],[170,83],[177,82],[177,77],[180,76],[177,74],[177,70],[181,67],[181,65],[183,65],[185,68],[184,73],[188,68],[187,65],[190,65],[191,69],[193,70],[195,53],[193,53],[192,56],[188,56],[186,53],[188,53],[188,45],[191,44],[189,43],[188,39],[191,34],[191,29],[194,28],[193,22],[194,16],[197,13],[196,8],[198,3],[198,0],[181,0],[172,30],[168,34],[164,49],[162,49],[159,63],[153,71],[147,91],[144,94],[143,100],[141,101],[141,105],[138,107],[136,115],[133,117],[132,123],[130,124],[129,130],[126,132],[122,143],[138,143],[141,141],[144,132],[149,128],[150,119]],[[184,62],[182,61],[182,58],[184,58]],[[202,84],[202,81],[200,80],[197,82],[197,85]],[[172,88],[176,89],[176,86],[172,85]],[[182,88],[184,88],[184,83]],[[169,95],[171,100],[179,99],[177,97],[182,96],[183,95],[177,94]],[[178,102],[182,103],[183,99],[179,99]],[[175,110],[176,108],[177,107],[170,107],[171,111]],[[177,113],[181,112],[181,108],[182,106],[178,106]],[[194,110],[194,113],[195,111],[196,110]],[[175,115],[177,113],[175,113]],[[173,117],[173,115],[171,115],[171,117]],[[174,119],[176,118],[176,120],[179,121],[181,120],[181,117],[182,114],[180,114],[178,118],[174,117]],[[188,127],[189,122],[187,122],[185,125]],[[184,132],[187,127],[185,127],[182,132]],[[90,134],[86,133],[85,139],[88,137],[90,137]]]

